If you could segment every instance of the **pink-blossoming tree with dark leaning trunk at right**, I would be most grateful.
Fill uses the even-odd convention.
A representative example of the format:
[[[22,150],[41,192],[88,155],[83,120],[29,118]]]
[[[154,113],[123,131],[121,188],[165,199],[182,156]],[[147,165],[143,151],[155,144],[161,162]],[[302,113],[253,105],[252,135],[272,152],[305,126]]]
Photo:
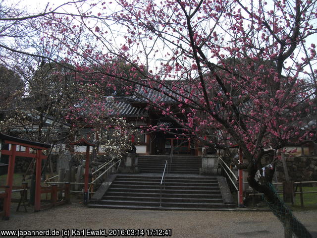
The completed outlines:
[[[302,130],[316,115],[316,2],[117,0],[76,6],[71,14],[46,15],[37,27],[44,38],[62,43],[64,54],[56,57],[100,75],[108,86],[121,82],[127,93],[133,85],[159,92],[156,98],[137,96],[180,124],[183,136],[225,151],[240,147],[249,184],[283,207],[277,216],[285,224],[288,210],[269,186],[278,157],[266,166],[261,158],[267,148],[316,138]],[[125,60],[130,71],[115,70],[113,59]],[[204,136],[206,128],[211,136]],[[263,166],[268,183],[261,184],[255,175]],[[310,237],[290,220],[297,236]]]

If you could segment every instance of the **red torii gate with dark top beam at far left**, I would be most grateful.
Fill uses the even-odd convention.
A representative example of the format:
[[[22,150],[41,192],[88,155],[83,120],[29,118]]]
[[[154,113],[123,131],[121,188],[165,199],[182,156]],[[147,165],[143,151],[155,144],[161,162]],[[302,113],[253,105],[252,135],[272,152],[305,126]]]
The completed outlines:
[[[6,196],[4,197],[4,220],[9,220],[10,216],[10,205],[11,205],[11,195],[12,195],[12,184],[13,184],[13,174],[14,174],[14,165],[15,157],[29,157],[36,158],[36,183],[35,183],[35,204],[34,211],[40,211],[41,208],[41,173],[42,173],[42,159],[46,159],[47,156],[42,154],[42,150],[48,150],[51,148],[51,145],[43,144],[39,142],[29,141],[20,139],[17,137],[5,135],[0,133],[0,139],[6,143],[11,144],[10,150],[1,150],[2,155],[9,155],[9,166],[8,174],[6,179]],[[24,146],[25,152],[16,151],[16,146]],[[30,153],[30,148],[37,149],[36,154]]]

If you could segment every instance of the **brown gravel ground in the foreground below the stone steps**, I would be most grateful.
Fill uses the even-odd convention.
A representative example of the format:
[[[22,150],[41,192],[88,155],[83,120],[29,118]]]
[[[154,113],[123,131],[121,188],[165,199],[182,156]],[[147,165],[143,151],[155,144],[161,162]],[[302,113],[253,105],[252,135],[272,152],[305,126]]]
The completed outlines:
[[[295,214],[317,237],[317,211]],[[173,238],[282,238],[284,235],[281,223],[271,212],[99,209],[78,202],[37,213],[12,212],[9,221],[0,221],[1,231],[17,229],[60,232],[62,229],[70,232],[75,231],[72,229],[106,229],[107,232],[108,229],[145,229],[145,237],[147,229],[171,229]]]

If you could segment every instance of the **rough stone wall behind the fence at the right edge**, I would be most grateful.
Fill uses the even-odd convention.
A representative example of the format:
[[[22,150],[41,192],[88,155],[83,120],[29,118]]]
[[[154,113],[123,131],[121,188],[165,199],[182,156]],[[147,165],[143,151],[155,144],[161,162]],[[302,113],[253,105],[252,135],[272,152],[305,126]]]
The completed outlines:
[[[293,181],[316,181],[317,180],[317,156],[286,157],[288,175]],[[276,165],[278,181],[285,179],[282,162]]]

